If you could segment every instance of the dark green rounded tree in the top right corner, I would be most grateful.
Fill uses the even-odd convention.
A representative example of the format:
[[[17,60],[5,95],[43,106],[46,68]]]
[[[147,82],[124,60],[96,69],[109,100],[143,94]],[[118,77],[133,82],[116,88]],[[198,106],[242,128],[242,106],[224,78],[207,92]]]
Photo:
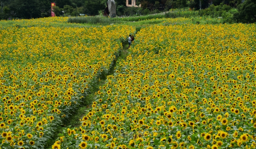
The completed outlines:
[[[237,7],[237,12],[234,14],[234,20],[242,23],[256,22],[256,1],[245,0],[244,3]]]

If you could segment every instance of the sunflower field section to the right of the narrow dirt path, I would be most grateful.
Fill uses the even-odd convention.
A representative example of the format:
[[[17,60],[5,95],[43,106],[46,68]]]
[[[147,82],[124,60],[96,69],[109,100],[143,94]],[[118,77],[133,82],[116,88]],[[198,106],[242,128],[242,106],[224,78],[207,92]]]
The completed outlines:
[[[255,148],[255,24],[142,28],[59,148]]]

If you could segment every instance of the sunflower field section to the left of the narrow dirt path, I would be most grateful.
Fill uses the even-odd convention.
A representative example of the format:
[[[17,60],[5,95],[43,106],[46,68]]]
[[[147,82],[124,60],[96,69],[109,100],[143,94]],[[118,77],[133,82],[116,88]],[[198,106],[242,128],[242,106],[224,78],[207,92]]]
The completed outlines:
[[[54,19],[54,18],[53,18]],[[109,72],[128,26],[0,30],[0,148],[44,148]]]

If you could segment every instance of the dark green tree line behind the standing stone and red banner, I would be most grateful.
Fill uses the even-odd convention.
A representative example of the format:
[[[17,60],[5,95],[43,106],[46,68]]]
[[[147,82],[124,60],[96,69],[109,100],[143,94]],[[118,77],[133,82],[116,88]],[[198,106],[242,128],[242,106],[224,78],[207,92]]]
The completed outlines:
[[[98,15],[107,7],[107,0],[0,0],[0,20],[10,17],[16,19],[32,19],[49,17],[51,14],[51,2],[56,3],[54,12],[57,16],[78,16],[80,14]],[[210,5],[228,5],[240,10],[240,16],[256,18],[256,1],[245,0],[136,0],[136,5],[141,8],[126,7],[126,0],[115,0],[117,15],[145,15],[158,13],[169,9],[200,10]],[[252,10],[252,11],[248,11]]]

